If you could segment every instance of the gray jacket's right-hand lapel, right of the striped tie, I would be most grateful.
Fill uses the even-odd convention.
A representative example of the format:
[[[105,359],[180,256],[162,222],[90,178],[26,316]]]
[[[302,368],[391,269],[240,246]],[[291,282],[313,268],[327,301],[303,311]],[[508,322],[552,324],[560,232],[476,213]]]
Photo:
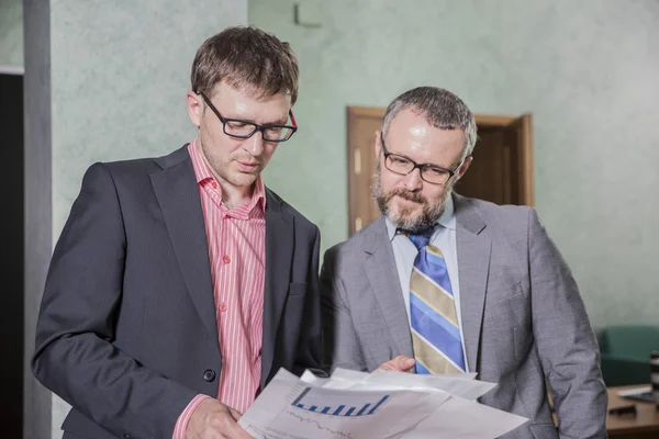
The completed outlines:
[[[484,234],[481,234],[485,228],[485,223],[471,206],[469,200],[454,195],[454,201],[462,333],[469,370],[477,372],[492,243]]]

